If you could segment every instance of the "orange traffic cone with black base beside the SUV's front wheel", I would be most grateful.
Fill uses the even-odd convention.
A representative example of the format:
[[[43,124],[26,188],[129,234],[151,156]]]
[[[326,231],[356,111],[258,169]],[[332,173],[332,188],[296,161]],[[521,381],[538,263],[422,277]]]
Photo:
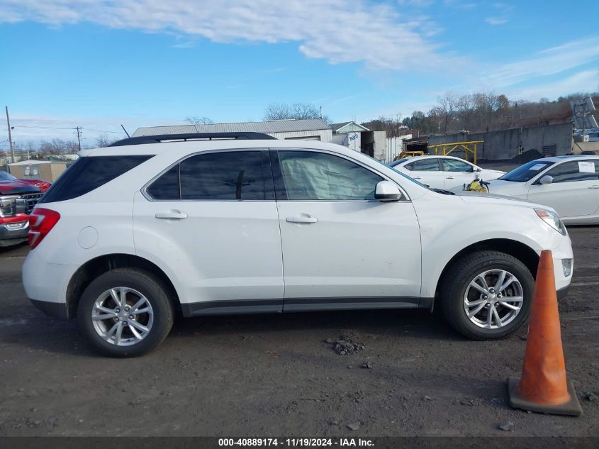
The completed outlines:
[[[547,414],[580,416],[581,405],[566,380],[551,251],[542,251],[524,355],[522,377],[508,377],[510,406]]]

